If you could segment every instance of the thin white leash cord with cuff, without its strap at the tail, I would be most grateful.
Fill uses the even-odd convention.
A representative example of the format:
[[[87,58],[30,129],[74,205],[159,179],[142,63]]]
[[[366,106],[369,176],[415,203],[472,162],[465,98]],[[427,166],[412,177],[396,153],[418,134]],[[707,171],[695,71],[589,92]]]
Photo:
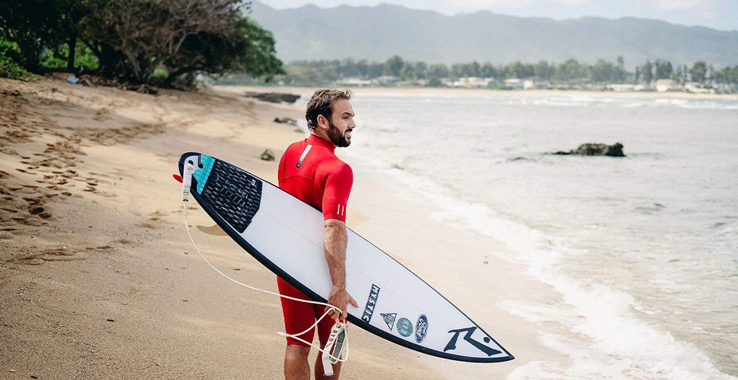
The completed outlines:
[[[314,345],[313,342],[308,342],[305,339],[300,338],[300,335],[303,335],[306,332],[311,331],[312,329],[314,329],[318,325],[318,323],[320,323],[320,321],[323,320],[323,318],[325,318],[328,315],[328,313],[331,312],[331,310],[338,311],[339,313],[341,312],[341,310],[339,308],[337,308],[336,306],[334,306],[334,305],[329,305],[328,303],[320,303],[320,302],[309,301],[309,300],[300,300],[299,298],[285,296],[283,294],[275,293],[274,291],[268,291],[268,290],[264,290],[264,289],[255,288],[253,286],[246,285],[245,283],[241,283],[241,281],[235,280],[234,278],[230,277],[228,274],[225,274],[225,273],[221,272],[220,270],[218,270],[218,268],[215,268],[215,266],[213,266],[213,264],[211,264],[210,261],[208,261],[207,258],[205,258],[204,255],[202,255],[202,252],[200,252],[200,249],[197,247],[197,244],[195,243],[195,239],[193,239],[193,237],[192,237],[192,233],[190,232],[190,223],[189,223],[189,221],[187,221],[187,203],[188,203],[188,201],[183,201],[182,202],[182,204],[184,204],[184,228],[187,229],[187,236],[190,237],[190,241],[192,242],[192,245],[195,247],[195,250],[197,251],[198,255],[200,255],[200,258],[202,258],[202,260],[204,260],[204,262],[207,263],[207,265],[210,266],[210,268],[213,268],[213,270],[215,270],[215,272],[218,272],[219,274],[221,274],[221,276],[226,277],[228,280],[231,280],[232,282],[237,283],[240,286],[245,286],[248,289],[252,289],[252,290],[255,290],[255,291],[261,291],[261,292],[266,293],[266,294],[272,294],[272,295],[275,295],[275,296],[278,296],[278,297],[286,298],[288,300],[294,300],[294,301],[299,301],[299,302],[303,302],[303,303],[311,303],[311,304],[314,304],[314,305],[322,305],[322,306],[328,307],[328,310],[325,311],[325,313],[323,313],[323,315],[320,316],[320,318],[318,318],[315,321],[315,323],[313,325],[311,325],[310,328],[308,328],[306,331],[303,331],[300,334],[294,334],[294,335],[283,333],[283,332],[277,332],[277,334],[280,335],[280,336],[287,336],[287,337],[292,338],[292,339],[297,339],[298,341],[303,342],[306,345],[311,345],[312,347],[317,348],[318,350],[320,350],[320,352],[323,353],[323,370],[326,371],[325,372],[326,376],[332,376],[332,374],[333,374],[332,373],[332,367],[330,365],[328,365],[328,367],[331,368],[331,370],[330,370],[331,372],[330,372],[330,374],[328,374],[328,367],[326,367],[326,365],[325,365],[325,363],[326,363],[326,356],[328,356],[328,358],[330,359],[330,362],[328,362],[328,363],[331,363],[331,362],[332,363],[345,362],[346,360],[348,360],[348,336],[345,335],[347,333],[347,328],[346,327],[348,327],[348,322],[341,322],[339,320],[336,321],[336,325],[334,325],[334,328],[331,331],[331,338],[328,339],[328,343],[325,345],[325,348],[320,348],[320,346]],[[339,327],[337,328],[337,326],[339,326]],[[336,343],[335,338],[341,332],[343,332],[343,334],[344,334],[343,349],[341,350],[341,352],[331,354],[331,348]],[[341,353],[344,353],[344,355],[342,355]]]

